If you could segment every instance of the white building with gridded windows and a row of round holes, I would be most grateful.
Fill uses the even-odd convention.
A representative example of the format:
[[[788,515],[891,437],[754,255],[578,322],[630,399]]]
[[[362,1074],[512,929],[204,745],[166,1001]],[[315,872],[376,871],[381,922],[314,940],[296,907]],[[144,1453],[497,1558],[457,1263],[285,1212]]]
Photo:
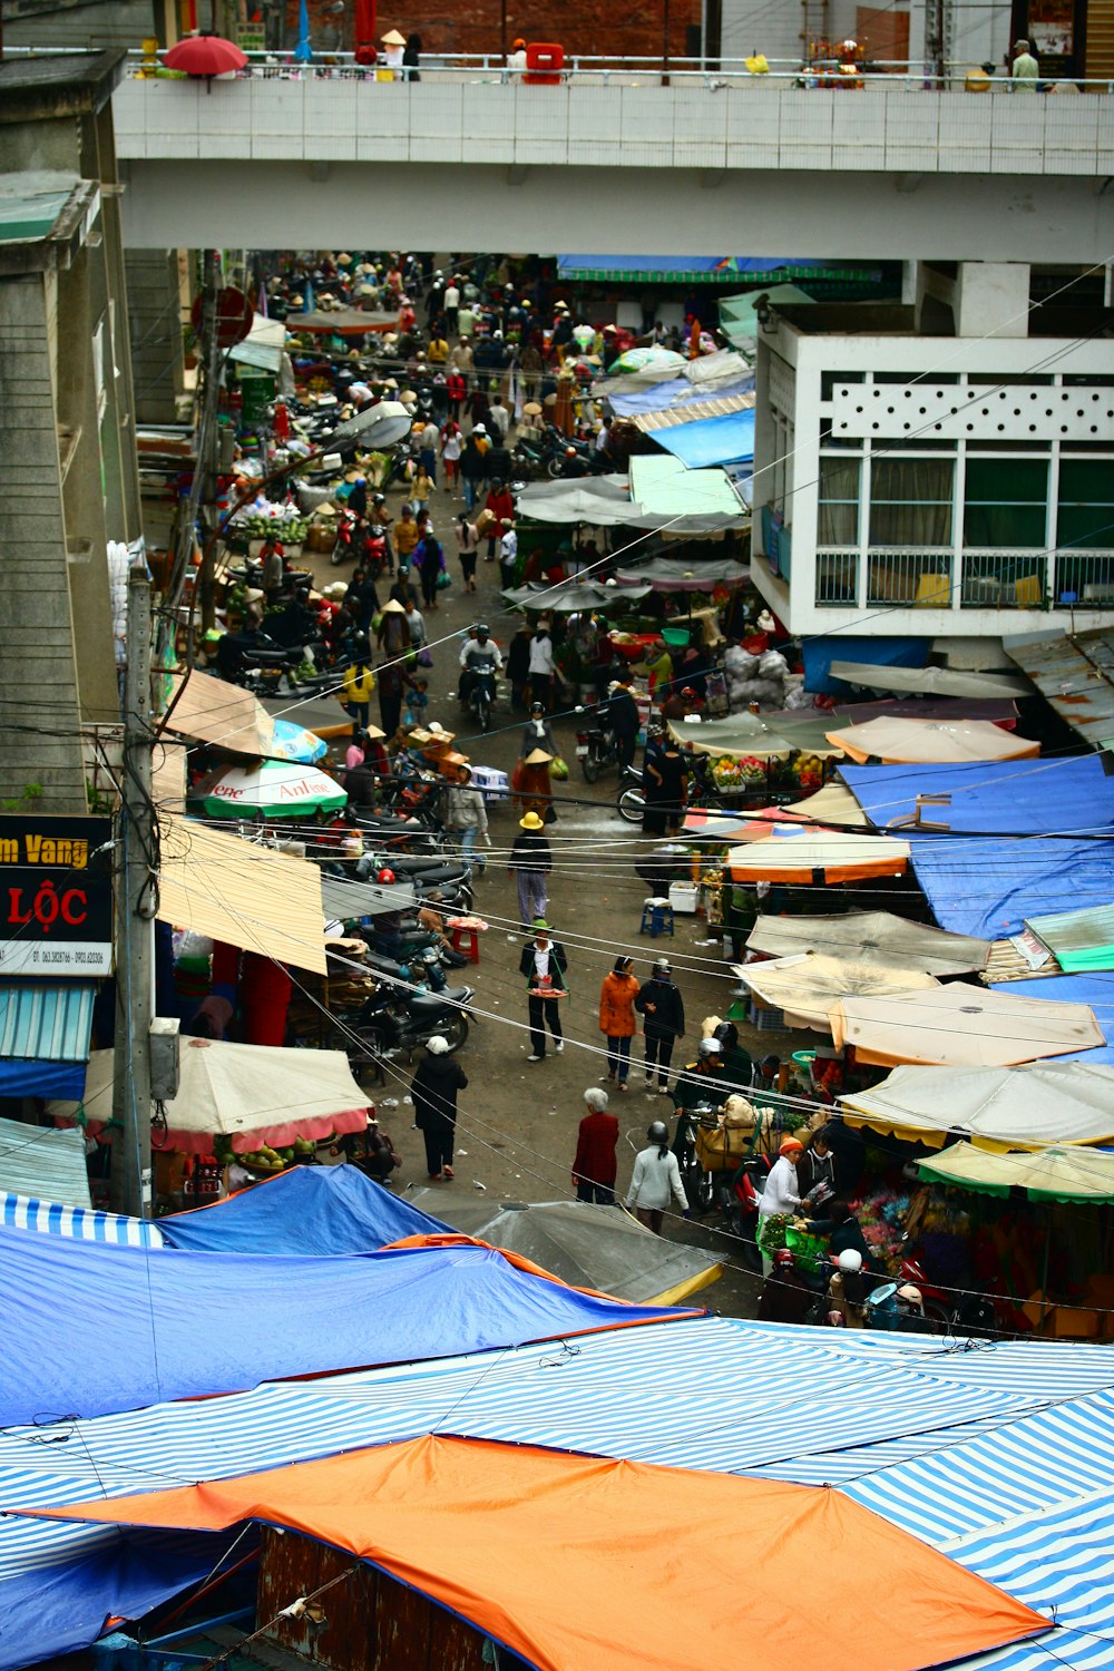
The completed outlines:
[[[1005,279],[1000,329],[1024,329]],[[977,314],[962,336],[803,319],[773,314],[755,388],[752,573],[792,633],[1111,620],[1114,341],[974,334]]]

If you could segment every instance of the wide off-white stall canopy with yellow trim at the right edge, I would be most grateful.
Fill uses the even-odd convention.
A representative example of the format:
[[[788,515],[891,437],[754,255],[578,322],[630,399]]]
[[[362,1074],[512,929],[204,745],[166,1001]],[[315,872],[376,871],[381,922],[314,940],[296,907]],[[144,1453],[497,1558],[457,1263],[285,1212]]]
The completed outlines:
[[[1114,1068],[1039,1061],[1020,1068],[895,1068],[842,1098],[852,1125],[934,1148],[964,1131],[980,1148],[1114,1141]]]

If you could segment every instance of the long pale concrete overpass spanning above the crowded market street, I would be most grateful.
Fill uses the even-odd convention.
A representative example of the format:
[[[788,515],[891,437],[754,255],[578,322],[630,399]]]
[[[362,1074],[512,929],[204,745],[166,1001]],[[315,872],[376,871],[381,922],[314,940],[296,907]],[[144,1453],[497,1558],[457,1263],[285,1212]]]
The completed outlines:
[[[590,249],[1101,262],[1114,97],[793,79],[347,70],[125,79],[132,247]]]

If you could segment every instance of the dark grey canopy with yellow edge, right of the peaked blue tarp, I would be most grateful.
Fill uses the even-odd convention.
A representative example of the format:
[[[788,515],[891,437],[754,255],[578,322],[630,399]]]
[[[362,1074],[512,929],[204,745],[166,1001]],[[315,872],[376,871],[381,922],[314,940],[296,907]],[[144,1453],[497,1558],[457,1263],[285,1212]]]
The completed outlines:
[[[636,1305],[676,1305],[715,1282],[723,1265],[650,1232],[613,1206],[586,1201],[446,1200],[421,1190],[414,1205],[441,1211],[461,1235],[518,1253],[576,1288],[595,1288]]]

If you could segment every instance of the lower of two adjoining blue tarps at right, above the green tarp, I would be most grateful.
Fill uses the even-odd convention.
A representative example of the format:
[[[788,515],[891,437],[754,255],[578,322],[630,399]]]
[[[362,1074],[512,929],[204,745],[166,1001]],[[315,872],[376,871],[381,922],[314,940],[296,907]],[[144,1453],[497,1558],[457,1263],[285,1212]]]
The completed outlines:
[[[882,770],[885,770],[882,767]],[[912,866],[942,929],[1020,934],[1025,917],[1114,899],[1114,846],[1017,836],[910,836]]]

